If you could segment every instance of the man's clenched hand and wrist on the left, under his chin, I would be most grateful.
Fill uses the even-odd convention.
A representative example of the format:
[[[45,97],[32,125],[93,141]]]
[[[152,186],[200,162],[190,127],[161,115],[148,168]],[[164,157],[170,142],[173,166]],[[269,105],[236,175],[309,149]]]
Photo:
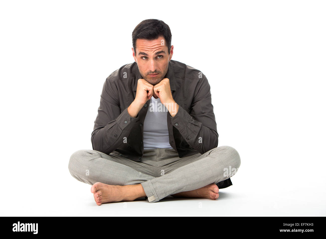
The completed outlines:
[[[147,92],[148,91],[148,92]],[[147,102],[152,98],[154,86],[145,79],[139,79],[137,82],[137,91],[135,100],[129,105],[128,113],[131,117],[136,118],[137,114]]]

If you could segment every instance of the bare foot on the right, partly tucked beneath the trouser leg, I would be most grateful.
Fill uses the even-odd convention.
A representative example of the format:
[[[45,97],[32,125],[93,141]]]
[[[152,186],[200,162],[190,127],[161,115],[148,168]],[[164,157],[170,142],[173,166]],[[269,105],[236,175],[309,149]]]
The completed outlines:
[[[218,187],[215,183],[209,184],[205,187],[195,189],[192,191],[186,191],[176,194],[171,194],[173,197],[194,197],[194,198],[209,198],[217,199],[218,198]]]

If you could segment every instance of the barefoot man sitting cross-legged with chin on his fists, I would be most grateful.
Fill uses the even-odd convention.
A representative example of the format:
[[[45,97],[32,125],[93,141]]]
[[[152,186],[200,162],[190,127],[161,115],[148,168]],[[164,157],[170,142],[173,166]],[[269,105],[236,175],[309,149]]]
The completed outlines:
[[[161,20],[139,23],[132,43],[135,62],[104,82],[93,150],[71,155],[71,175],[92,185],[97,205],[168,195],[215,200],[232,185],[240,156],[217,147],[206,76],[171,60],[171,32]]]

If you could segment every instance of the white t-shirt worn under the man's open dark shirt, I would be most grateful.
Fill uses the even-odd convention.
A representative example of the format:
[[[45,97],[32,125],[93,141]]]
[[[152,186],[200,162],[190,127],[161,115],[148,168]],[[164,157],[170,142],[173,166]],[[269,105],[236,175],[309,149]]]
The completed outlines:
[[[144,120],[144,149],[170,148],[167,124],[168,109],[161,103],[160,98],[152,96]]]

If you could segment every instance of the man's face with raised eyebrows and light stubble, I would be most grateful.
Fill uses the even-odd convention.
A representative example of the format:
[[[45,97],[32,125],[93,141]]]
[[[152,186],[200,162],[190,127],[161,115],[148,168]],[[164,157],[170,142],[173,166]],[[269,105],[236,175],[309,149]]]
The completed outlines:
[[[165,43],[163,36],[151,41],[137,39],[136,52],[131,48],[141,76],[153,86],[163,80],[173,55],[173,46],[169,55],[168,46],[161,44],[162,42]]]

